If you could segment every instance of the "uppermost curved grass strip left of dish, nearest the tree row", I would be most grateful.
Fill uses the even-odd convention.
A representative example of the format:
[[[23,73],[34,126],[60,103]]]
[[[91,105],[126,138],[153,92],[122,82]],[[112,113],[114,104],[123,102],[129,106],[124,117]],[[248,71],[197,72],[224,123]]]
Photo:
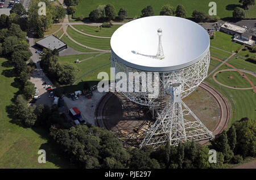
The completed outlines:
[[[112,34],[122,25],[113,25],[111,28],[98,28],[97,26],[73,25],[77,30],[94,36],[111,37]]]

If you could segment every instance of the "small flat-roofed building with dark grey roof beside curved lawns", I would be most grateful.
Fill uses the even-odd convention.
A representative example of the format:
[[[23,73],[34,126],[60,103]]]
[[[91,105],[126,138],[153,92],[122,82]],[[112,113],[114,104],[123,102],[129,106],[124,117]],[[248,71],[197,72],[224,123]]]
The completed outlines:
[[[51,49],[52,51],[53,49],[57,49],[59,52],[68,48],[67,44],[53,35],[47,36],[44,39],[37,41],[36,45],[42,49],[47,48]]]

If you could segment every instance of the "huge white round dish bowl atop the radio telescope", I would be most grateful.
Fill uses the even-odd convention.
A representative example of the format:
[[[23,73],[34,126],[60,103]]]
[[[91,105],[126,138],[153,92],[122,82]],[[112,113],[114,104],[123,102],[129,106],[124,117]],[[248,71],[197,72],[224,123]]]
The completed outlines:
[[[161,28],[164,58],[159,60],[157,30]],[[209,51],[207,31],[191,20],[175,16],[150,16],[119,27],[111,37],[117,61],[147,72],[170,72],[200,61]],[[135,53],[137,52],[137,53]]]

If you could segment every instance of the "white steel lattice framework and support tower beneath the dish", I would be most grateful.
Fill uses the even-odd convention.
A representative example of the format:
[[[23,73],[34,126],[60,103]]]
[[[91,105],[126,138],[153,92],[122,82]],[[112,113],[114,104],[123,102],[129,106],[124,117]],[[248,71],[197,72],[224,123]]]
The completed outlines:
[[[143,72],[130,68],[117,59],[115,53],[112,53],[111,66],[115,68],[115,74],[125,72],[128,77],[129,72],[138,73],[138,76]],[[156,98],[149,98],[148,92],[122,92],[131,101],[148,106],[156,114],[156,121],[140,146],[157,147],[167,142],[177,145],[180,142],[199,141],[214,137],[212,132],[182,101],[207,77],[209,62],[210,52],[208,50],[201,60],[187,68],[159,72],[159,85],[154,85],[159,87],[159,95]],[[135,80],[128,81],[127,86],[133,85],[134,82]],[[193,120],[186,119],[187,116],[192,116]]]

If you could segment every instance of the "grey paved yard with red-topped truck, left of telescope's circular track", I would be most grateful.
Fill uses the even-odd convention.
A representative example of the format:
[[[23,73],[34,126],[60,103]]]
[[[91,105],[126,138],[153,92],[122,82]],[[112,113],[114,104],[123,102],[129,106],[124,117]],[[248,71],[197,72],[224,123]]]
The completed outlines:
[[[81,112],[81,116],[85,119],[85,122],[88,122],[92,125],[95,125],[95,116],[94,112],[96,110],[98,102],[105,93],[100,93],[98,90],[93,91],[92,98],[88,99],[85,95],[81,95],[79,99],[75,101],[72,98],[64,97],[65,104],[68,108],[77,107],[77,109]]]

